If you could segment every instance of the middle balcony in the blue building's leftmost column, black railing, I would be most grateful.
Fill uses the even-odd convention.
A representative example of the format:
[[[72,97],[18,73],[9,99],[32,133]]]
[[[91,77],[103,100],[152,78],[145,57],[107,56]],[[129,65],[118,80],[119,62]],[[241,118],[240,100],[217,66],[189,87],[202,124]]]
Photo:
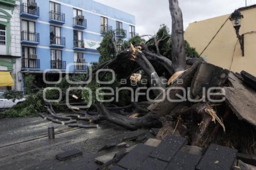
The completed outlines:
[[[21,44],[38,45],[39,44],[39,33],[36,32],[21,32]]]

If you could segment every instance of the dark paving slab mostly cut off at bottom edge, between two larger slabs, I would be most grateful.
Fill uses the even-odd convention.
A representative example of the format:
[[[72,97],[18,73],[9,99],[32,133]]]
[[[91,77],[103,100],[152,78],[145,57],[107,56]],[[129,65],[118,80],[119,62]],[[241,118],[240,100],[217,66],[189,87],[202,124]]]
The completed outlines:
[[[148,157],[137,170],[164,170],[167,166],[167,162]]]

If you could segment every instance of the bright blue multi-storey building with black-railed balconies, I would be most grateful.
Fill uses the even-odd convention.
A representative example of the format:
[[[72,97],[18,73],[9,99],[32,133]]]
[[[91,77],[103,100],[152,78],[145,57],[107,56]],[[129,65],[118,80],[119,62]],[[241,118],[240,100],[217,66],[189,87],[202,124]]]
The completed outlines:
[[[108,29],[118,43],[135,35],[135,17],[92,0],[21,0],[23,73],[45,69],[82,73],[98,62],[96,50]],[[74,63],[69,68],[67,65]]]

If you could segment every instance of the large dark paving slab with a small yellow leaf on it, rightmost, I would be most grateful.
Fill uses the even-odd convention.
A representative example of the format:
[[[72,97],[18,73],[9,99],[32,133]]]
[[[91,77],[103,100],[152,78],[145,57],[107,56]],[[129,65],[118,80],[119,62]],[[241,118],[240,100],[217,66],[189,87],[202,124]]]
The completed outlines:
[[[201,161],[197,165],[197,170],[212,170],[212,169],[222,169],[229,170],[233,168],[234,161],[237,156],[237,150],[211,144]]]

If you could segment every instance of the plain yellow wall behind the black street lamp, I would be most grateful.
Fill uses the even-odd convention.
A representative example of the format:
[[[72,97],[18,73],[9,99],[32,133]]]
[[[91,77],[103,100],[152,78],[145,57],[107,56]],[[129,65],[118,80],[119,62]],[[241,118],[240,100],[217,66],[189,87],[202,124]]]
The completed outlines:
[[[239,73],[245,70],[256,76],[256,8],[241,13],[244,18],[239,33],[245,34],[245,56],[242,56],[233,25],[227,20],[229,15],[190,23],[184,37],[200,54],[225,23],[201,56],[207,56],[208,62],[214,65]],[[251,31],[255,32],[248,33]]]

